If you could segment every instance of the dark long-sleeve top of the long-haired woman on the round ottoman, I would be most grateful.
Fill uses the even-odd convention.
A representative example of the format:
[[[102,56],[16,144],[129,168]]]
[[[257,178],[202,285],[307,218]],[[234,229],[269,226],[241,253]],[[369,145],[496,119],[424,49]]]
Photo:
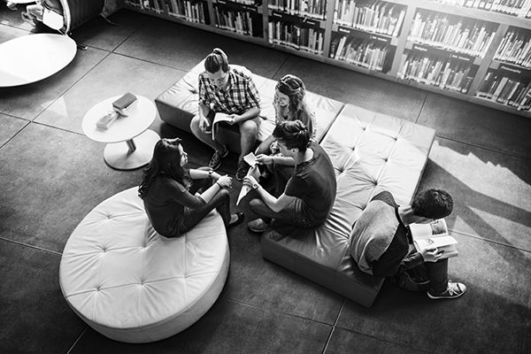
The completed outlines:
[[[155,230],[160,235],[175,237],[179,235],[188,211],[206,202],[200,196],[190,194],[178,181],[161,175],[144,196],[143,204]]]

